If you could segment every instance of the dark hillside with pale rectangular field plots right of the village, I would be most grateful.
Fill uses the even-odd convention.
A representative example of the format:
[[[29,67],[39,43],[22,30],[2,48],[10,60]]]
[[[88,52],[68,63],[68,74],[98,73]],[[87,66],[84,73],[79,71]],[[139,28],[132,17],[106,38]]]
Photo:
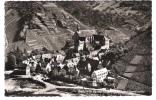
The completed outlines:
[[[137,35],[125,46],[132,47],[125,56],[114,64],[118,74],[129,80],[122,80],[119,84],[123,90],[144,91],[152,93],[152,32],[151,28]],[[121,89],[120,87],[118,89]]]

